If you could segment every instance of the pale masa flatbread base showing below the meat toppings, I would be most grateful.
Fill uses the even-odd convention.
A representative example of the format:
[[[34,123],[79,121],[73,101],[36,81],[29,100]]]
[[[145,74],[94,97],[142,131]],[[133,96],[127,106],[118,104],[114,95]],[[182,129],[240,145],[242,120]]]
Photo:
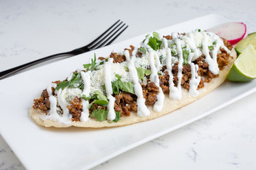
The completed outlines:
[[[43,113],[39,109],[33,109],[31,108],[29,113],[31,118],[36,121],[39,125],[46,126],[46,127],[56,127],[56,128],[67,128],[70,126],[76,126],[76,127],[82,127],[82,128],[103,128],[103,127],[115,127],[115,126],[122,126],[122,125],[129,125],[133,123],[139,123],[146,120],[152,120],[154,118],[159,118],[162,115],[166,115],[167,113],[171,113],[171,111],[175,111],[178,108],[181,108],[182,106],[186,106],[189,103],[192,103],[193,101],[198,100],[198,98],[201,98],[203,96],[206,96],[206,94],[209,94],[211,91],[216,89],[220,84],[225,81],[226,76],[230,70],[230,67],[232,66],[233,62],[235,62],[235,59],[237,57],[235,50],[233,49],[230,52],[230,57],[228,60],[228,65],[224,67],[224,69],[220,70],[219,77],[216,77],[210,81],[210,83],[205,83],[204,88],[199,90],[198,96],[194,97],[188,94],[188,91],[186,89],[182,89],[182,98],[180,100],[173,100],[169,98],[169,95],[165,94],[164,98],[164,108],[161,112],[155,112],[153,110],[152,106],[149,106],[149,111],[151,111],[151,114],[146,117],[139,117],[136,113],[131,113],[129,116],[122,116],[121,120],[119,120],[117,123],[108,123],[107,120],[104,120],[102,122],[98,122],[94,118],[90,118],[85,123],[81,122],[72,122],[70,125],[65,125],[58,123],[54,120],[47,119],[47,115]]]

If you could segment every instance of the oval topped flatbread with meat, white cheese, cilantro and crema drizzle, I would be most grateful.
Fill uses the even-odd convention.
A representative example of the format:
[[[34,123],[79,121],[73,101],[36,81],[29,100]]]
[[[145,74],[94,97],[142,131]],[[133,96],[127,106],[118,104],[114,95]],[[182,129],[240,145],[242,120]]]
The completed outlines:
[[[30,116],[58,128],[151,120],[220,86],[235,59],[233,46],[215,33],[150,33],[140,47],[94,56],[67,79],[53,81],[34,100]]]

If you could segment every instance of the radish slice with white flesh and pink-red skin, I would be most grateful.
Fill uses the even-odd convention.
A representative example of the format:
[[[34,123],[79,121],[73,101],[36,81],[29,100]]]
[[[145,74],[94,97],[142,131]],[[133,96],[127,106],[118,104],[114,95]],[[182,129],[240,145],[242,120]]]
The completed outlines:
[[[231,45],[235,45],[246,33],[246,26],[244,23],[224,23],[223,25],[210,28],[208,31],[219,35],[221,38],[225,38]]]

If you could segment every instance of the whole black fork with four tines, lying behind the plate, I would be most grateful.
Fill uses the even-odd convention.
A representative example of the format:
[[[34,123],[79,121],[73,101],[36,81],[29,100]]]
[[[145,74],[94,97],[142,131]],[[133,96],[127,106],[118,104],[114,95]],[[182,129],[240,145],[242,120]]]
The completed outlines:
[[[12,74],[14,74],[16,72],[21,71],[22,69],[26,69],[28,67],[31,67],[36,64],[40,64],[42,62],[46,62],[48,60],[53,60],[53,59],[59,58],[59,57],[72,57],[74,55],[80,55],[84,52],[88,52],[88,51],[95,50],[97,48],[100,48],[100,47],[103,47],[106,45],[110,45],[128,27],[128,26],[124,27],[125,25],[126,25],[125,23],[123,23],[122,21],[120,22],[120,20],[118,20],[110,28],[105,30],[105,32],[102,33],[102,35],[100,35],[98,38],[96,38],[95,40],[90,42],[90,44],[85,45],[84,47],[80,47],[78,49],[72,50],[70,52],[62,52],[62,53],[58,53],[56,55],[50,55],[48,57],[43,57],[43,58],[41,58],[39,60],[35,60],[33,62],[28,62],[26,64],[22,64],[18,67],[14,67],[12,69],[7,69],[3,72],[0,72],[0,79],[4,79],[6,77],[11,76]]]

